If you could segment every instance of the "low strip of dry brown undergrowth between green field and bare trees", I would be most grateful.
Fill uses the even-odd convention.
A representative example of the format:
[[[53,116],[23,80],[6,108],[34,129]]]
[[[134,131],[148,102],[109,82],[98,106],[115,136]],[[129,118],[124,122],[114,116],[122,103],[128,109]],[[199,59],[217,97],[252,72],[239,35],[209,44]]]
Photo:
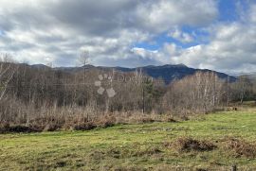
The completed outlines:
[[[153,122],[178,122],[184,118],[170,115],[134,113],[101,113],[91,120],[86,118],[78,119],[73,117],[47,116],[47,118],[37,118],[28,124],[0,123],[0,133],[28,133],[57,130],[91,130],[94,128],[109,128],[116,125],[125,124],[145,124]]]

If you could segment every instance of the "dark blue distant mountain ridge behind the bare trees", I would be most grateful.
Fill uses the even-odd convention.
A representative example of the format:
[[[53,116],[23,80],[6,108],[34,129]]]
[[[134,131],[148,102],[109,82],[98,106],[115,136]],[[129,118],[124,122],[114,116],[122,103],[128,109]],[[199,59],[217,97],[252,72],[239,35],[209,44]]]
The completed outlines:
[[[32,65],[32,67],[36,68],[43,68],[42,65]],[[162,65],[162,66],[154,66],[154,65],[149,65],[149,66],[144,66],[144,67],[137,67],[137,68],[125,68],[125,67],[105,67],[105,66],[93,66],[93,65],[85,65],[82,67],[57,67],[53,68],[55,70],[61,70],[65,72],[77,72],[77,71],[82,71],[83,69],[90,70],[90,69],[99,69],[99,70],[116,70],[119,72],[135,72],[135,71],[141,71],[147,76],[154,77],[154,78],[162,78],[166,84],[169,84],[172,82],[174,79],[181,79],[183,77],[187,76],[192,76],[198,71],[201,72],[214,72],[217,74],[218,77],[228,79],[229,81],[235,81],[236,77],[229,76],[225,73],[220,73],[216,71],[211,71],[208,69],[194,69],[190,68],[184,64],[177,64],[177,65],[172,65],[172,64],[167,64],[167,65]]]

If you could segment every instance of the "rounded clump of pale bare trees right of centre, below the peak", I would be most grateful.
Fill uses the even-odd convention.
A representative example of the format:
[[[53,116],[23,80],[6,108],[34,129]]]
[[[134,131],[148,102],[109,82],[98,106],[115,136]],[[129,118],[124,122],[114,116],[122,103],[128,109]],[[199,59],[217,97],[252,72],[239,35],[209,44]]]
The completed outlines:
[[[184,77],[174,81],[164,96],[167,109],[187,114],[206,113],[221,107],[226,91],[225,81],[215,73],[195,73],[191,77]]]

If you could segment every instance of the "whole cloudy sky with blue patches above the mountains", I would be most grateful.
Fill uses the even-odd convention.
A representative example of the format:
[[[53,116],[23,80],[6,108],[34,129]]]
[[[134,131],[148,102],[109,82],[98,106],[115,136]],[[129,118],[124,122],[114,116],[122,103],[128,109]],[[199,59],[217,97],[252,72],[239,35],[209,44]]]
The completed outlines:
[[[256,0],[0,0],[0,53],[78,66],[256,72]]]

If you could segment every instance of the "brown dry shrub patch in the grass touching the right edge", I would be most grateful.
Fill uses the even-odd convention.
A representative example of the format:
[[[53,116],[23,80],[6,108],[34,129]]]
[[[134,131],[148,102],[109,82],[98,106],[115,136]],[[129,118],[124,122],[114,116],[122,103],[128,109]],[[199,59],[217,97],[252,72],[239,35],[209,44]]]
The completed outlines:
[[[245,140],[228,137],[223,140],[223,145],[235,157],[256,157],[256,145],[250,144]]]

